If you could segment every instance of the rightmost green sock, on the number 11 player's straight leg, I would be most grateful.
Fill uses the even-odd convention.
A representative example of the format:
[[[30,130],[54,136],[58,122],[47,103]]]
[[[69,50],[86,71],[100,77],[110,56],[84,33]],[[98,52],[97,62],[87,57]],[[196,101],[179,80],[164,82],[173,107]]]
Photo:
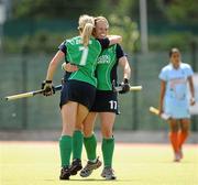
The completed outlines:
[[[112,156],[114,151],[114,138],[110,139],[102,139],[102,155],[103,155],[103,163],[105,166],[112,165]]]

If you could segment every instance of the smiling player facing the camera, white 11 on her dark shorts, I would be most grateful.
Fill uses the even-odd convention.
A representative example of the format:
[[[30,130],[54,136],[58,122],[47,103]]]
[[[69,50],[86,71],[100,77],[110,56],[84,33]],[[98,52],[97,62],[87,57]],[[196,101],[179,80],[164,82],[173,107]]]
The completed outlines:
[[[107,37],[109,23],[106,18],[95,18],[97,39]],[[123,68],[123,90],[121,94],[128,92],[130,89],[129,79],[131,76],[131,68],[129,62],[119,44],[112,45],[102,51],[98,58],[96,76],[98,79],[97,92],[95,104],[91,111],[84,121],[84,144],[87,152],[88,163],[80,172],[80,176],[89,176],[94,170],[101,165],[99,159],[97,159],[96,148],[97,140],[94,133],[95,121],[99,113],[101,133],[102,133],[102,155],[103,155],[103,171],[101,176],[106,179],[116,179],[114,172],[112,170],[112,157],[114,151],[114,138],[113,138],[113,124],[116,120],[116,113],[118,110],[117,92],[112,89],[112,83],[117,84],[117,67],[120,65]],[[68,69],[69,69],[68,65]],[[67,68],[67,67],[66,67]],[[80,130],[80,126],[76,127],[76,130]]]

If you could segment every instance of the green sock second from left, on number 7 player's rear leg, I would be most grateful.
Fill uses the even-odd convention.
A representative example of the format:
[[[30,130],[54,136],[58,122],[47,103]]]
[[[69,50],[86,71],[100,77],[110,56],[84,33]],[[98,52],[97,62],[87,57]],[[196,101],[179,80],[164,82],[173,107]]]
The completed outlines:
[[[81,131],[76,130],[73,134],[73,159],[81,160],[84,135]]]

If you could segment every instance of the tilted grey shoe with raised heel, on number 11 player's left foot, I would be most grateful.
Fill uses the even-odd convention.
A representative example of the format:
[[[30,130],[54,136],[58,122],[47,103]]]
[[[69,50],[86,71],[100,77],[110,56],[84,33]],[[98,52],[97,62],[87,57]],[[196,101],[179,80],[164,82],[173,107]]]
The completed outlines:
[[[101,166],[101,161],[99,160],[99,157],[97,159],[96,162],[91,162],[91,161],[88,161],[87,162],[87,165],[80,171],[80,176],[81,177],[88,177],[94,170],[97,170],[98,167]]]

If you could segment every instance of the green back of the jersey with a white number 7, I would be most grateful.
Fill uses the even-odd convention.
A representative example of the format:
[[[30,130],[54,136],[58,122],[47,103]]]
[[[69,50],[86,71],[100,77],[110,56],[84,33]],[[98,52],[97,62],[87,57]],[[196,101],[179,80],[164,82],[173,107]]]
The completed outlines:
[[[76,36],[66,42],[66,61],[78,66],[78,70],[72,73],[68,79],[85,81],[97,87],[95,69],[98,56],[101,53],[101,44],[96,39],[89,40],[89,45],[81,44],[81,36]]]

